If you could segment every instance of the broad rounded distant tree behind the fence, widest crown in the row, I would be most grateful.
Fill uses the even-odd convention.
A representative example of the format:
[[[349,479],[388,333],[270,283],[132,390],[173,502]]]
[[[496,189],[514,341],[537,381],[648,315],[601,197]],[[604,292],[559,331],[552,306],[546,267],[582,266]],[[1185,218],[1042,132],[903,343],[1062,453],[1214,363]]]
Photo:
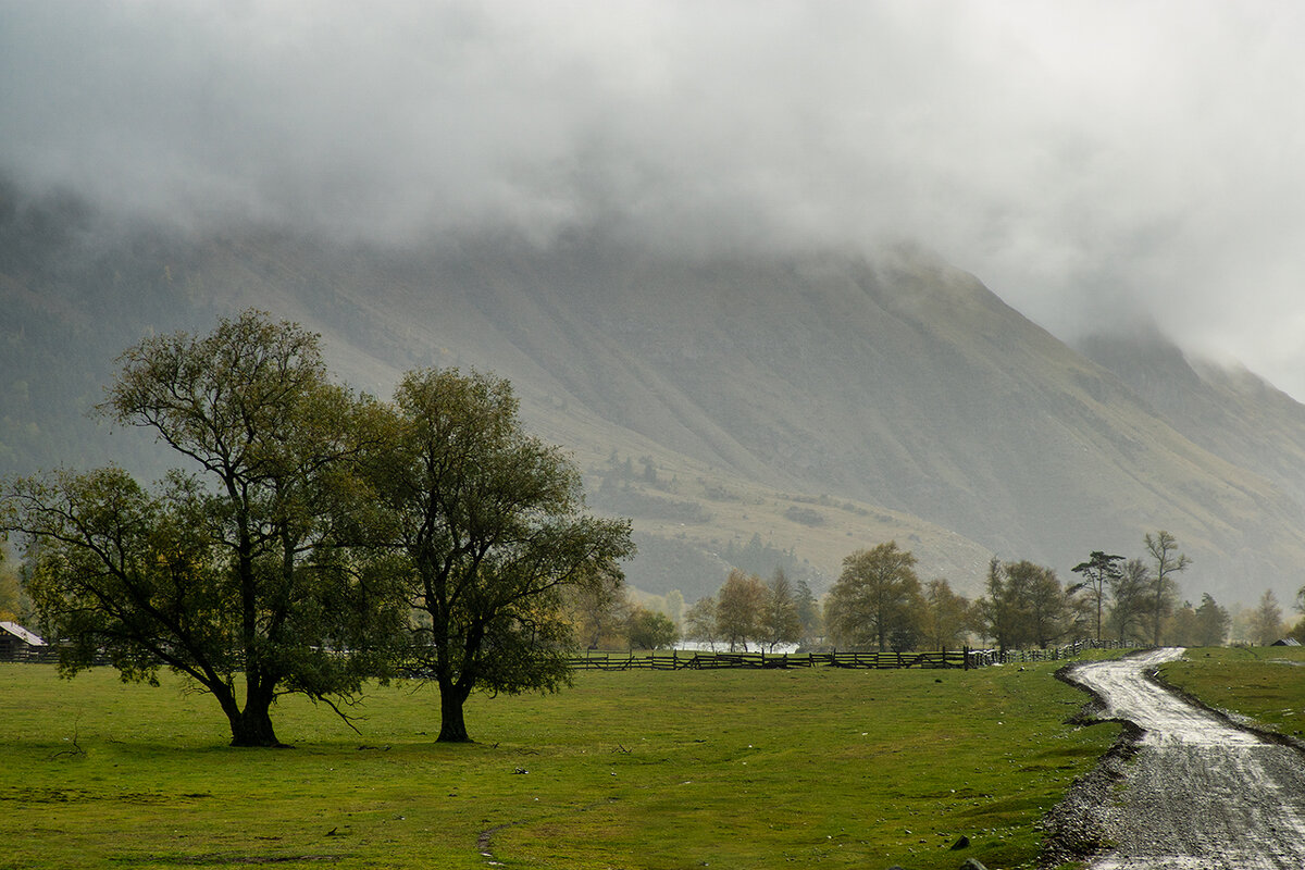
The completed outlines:
[[[883,652],[919,634],[923,610],[915,556],[889,541],[843,560],[843,573],[825,605],[825,622],[835,643],[874,646]]]

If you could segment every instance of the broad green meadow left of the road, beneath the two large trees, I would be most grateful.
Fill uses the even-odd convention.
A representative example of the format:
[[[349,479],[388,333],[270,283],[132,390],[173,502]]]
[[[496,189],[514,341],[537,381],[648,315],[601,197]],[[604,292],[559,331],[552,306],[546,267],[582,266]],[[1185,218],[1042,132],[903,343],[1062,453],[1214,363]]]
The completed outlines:
[[[296,749],[232,750],[176,681],[0,665],[0,867],[1034,866],[1117,733],[1053,670],[590,672],[478,697],[463,746],[389,687],[361,736],[287,699]]]

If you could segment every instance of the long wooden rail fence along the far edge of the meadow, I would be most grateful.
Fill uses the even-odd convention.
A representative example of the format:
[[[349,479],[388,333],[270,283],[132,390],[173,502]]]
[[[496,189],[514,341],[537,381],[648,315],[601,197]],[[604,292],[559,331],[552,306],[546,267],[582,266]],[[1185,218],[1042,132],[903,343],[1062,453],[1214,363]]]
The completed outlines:
[[[1024,661],[1057,661],[1075,659],[1091,648],[1134,648],[1135,643],[1117,640],[1075,640],[1045,650],[944,650],[929,652],[715,652],[692,650],[655,650],[632,652],[589,651],[572,656],[578,670],[711,670],[724,668],[987,668]]]

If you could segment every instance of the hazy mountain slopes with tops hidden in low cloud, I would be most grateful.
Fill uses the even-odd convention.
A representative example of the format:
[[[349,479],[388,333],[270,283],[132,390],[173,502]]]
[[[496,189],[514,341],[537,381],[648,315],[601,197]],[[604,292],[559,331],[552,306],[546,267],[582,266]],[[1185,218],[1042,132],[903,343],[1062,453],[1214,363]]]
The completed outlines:
[[[1189,597],[1291,597],[1305,557],[1305,408],[1172,352],[1070,348],[919,248],[689,256],[595,231],[384,249],[132,227],[0,185],[0,303],[4,472],[157,473],[141,433],[81,416],[114,356],[256,305],[382,395],[418,365],[512,378],[591,503],[636,519],[649,592],[693,600],[740,562],[820,588],[889,537],[970,592],[993,553],[1067,577],[1159,528],[1195,560]]]

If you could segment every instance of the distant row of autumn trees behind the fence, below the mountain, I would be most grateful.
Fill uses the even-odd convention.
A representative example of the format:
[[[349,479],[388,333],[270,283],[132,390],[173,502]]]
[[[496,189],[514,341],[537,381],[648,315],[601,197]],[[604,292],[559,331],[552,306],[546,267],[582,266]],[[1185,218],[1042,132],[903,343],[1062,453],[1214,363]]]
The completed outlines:
[[[1174,605],[1173,575],[1191,563],[1177,552],[1174,537],[1159,531],[1142,543],[1150,558],[1092,552],[1073,569],[1081,579],[1070,584],[1044,565],[993,558],[975,600],[954,592],[945,578],[921,583],[915,556],[895,541],[844,558],[823,605],[805,583],[795,590],[783,571],[765,583],[736,569],[716,595],[686,610],[684,637],[731,650],[800,643],[897,652],[958,648],[975,640],[1004,651],[1078,638],[1225,643],[1233,620],[1212,596],[1203,595],[1199,607]],[[1257,639],[1280,637],[1275,633],[1283,630],[1282,613],[1275,617],[1274,607],[1272,593],[1266,592],[1254,618],[1248,617]],[[1305,588],[1298,607],[1305,613]],[[796,623],[786,616],[795,609]]]

